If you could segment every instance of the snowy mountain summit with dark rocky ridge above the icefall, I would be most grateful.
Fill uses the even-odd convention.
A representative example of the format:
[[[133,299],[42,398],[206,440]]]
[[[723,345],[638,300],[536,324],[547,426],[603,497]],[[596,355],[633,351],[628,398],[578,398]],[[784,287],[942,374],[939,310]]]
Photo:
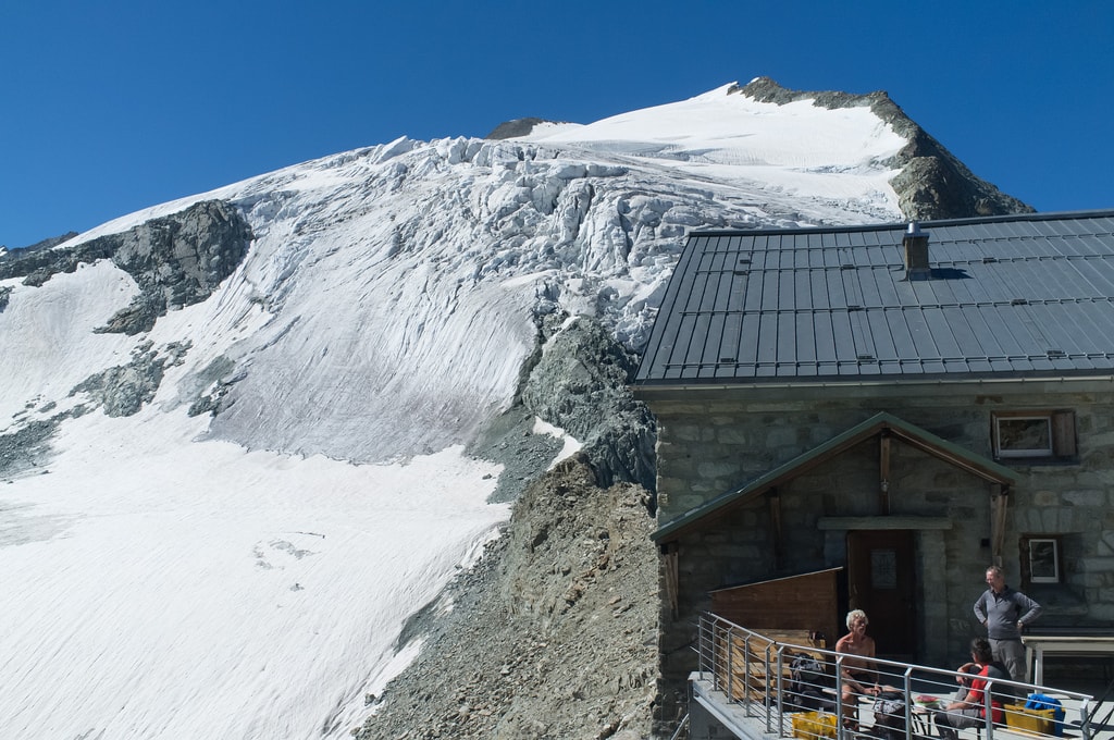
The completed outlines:
[[[808,93],[758,77],[745,86],[732,82],[690,100],[587,126],[522,118],[501,125],[489,138],[511,136],[665,159],[674,166],[687,163],[678,168],[690,172],[729,165],[716,173],[724,182],[791,183],[803,197],[829,196],[837,179],[829,175],[839,174],[844,187],[859,183],[860,198],[892,191],[887,196],[896,196],[909,220],[1033,211],[976,177],[882,91]],[[886,185],[878,186],[879,176]]]

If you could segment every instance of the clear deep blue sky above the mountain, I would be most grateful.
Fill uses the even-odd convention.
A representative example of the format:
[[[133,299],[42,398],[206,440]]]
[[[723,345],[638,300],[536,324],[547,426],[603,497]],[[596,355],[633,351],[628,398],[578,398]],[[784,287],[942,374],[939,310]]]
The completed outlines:
[[[1114,207],[1114,3],[6,0],[0,244],[405,135],[765,75],[887,90],[1039,211]]]

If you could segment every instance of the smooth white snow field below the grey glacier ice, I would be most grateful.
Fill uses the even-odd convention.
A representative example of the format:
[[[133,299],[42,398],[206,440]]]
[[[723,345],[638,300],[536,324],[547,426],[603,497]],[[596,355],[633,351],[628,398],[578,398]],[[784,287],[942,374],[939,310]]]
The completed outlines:
[[[189,444],[174,416],[67,425],[0,499],[4,737],[346,737],[402,623],[506,518],[498,471]]]

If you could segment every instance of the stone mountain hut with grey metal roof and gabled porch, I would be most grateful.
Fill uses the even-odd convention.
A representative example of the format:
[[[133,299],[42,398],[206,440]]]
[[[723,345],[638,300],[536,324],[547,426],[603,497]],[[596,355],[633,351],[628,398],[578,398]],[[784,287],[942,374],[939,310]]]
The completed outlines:
[[[1039,625],[1114,625],[1114,212],[694,232],[634,389],[666,689],[713,594],[821,571],[818,629],[862,607],[925,664],[983,634],[991,563]]]

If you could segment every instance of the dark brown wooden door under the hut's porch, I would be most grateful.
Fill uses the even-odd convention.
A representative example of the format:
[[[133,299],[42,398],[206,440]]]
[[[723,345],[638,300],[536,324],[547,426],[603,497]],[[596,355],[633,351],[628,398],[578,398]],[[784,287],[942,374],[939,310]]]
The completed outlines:
[[[907,529],[847,533],[848,605],[870,620],[879,658],[917,654],[917,593],[912,533]]]

